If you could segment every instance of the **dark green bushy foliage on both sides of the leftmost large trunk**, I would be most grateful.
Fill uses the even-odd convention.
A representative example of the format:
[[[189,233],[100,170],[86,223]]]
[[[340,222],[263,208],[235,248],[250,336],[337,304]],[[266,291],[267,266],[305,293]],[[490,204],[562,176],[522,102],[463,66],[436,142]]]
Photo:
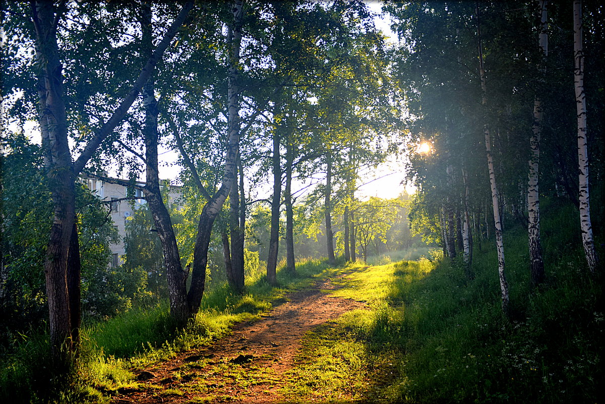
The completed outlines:
[[[41,147],[22,134],[5,137],[2,155],[2,282],[0,333],[24,331],[47,317],[44,266],[53,208],[42,165]],[[27,184],[24,188],[23,184]],[[116,231],[106,208],[76,184],[76,212],[82,262],[82,308],[110,315],[125,305],[128,290],[144,287],[139,274],[108,268],[109,244]],[[108,281],[108,283],[103,283]],[[4,328],[6,327],[6,328]],[[10,337],[8,337],[10,339]],[[7,339],[3,339],[4,342]]]

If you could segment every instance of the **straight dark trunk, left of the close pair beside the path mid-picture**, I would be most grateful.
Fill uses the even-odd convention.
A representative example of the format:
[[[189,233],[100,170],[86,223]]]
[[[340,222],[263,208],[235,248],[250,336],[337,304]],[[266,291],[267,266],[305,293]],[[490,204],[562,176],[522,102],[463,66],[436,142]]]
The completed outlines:
[[[267,280],[277,285],[277,253],[280,248],[280,197],[281,197],[281,156],[280,132],[273,132],[273,197],[271,199],[271,231],[269,236],[269,256],[267,257]]]

